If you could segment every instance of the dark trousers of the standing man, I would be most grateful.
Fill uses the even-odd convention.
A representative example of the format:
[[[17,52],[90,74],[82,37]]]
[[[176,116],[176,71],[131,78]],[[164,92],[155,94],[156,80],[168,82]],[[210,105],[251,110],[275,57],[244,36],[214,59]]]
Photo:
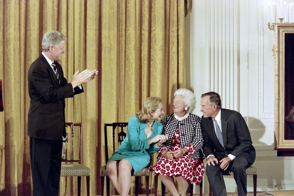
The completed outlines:
[[[57,196],[61,171],[62,140],[30,137],[33,196]]]

